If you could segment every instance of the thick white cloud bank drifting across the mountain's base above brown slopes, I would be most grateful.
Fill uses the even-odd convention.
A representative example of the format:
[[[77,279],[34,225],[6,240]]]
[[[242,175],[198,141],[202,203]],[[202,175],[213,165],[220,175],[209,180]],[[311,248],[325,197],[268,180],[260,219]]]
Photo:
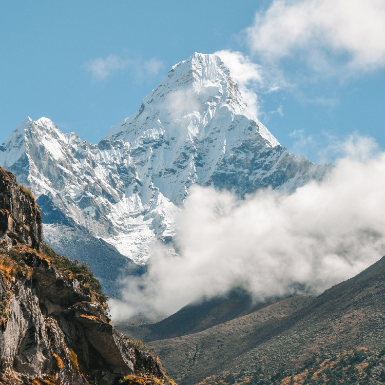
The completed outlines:
[[[201,298],[242,287],[256,300],[318,295],[385,254],[385,153],[351,138],[328,180],[292,195],[259,190],[245,200],[192,186],[178,219],[179,255],[153,248],[148,273],[126,281],[114,320],[170,315]]]

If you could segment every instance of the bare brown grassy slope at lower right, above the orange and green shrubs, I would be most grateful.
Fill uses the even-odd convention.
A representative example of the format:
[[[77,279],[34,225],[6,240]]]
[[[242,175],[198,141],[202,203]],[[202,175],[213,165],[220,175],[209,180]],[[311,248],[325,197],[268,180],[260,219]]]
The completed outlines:
[[[338,356],[356,347],[366,347],[378,356],[385,347],[384,282],[385,258],[382,258],[302,309],[286,317],[251,324],[248,333],[244,332],[242,317],[205,332],[149,345],[156,348],[165,368],[180,378],[181,384],[242,370],[243,379],[253,378],[261,368],[266,378],[274,378],[285,370],[296,373],[306,359],[322,355],[322,351]],[[227,334],[216,334],[219,327],[225,326]]]

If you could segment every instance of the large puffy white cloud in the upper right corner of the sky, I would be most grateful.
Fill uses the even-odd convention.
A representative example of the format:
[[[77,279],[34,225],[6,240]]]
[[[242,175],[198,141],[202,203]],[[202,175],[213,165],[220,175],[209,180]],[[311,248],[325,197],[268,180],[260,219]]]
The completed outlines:
[[[319,71],[338,58],[354,71],[385,65],[383,0],[275,0],[246,33],[265,60],[300,53]]]

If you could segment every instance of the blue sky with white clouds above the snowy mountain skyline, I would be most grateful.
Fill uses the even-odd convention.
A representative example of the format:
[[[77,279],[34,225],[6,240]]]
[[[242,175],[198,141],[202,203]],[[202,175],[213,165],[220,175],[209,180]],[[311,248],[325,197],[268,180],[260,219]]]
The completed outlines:
[[[334,162],[352,134],[385,149],[381,0],[16,0],[0,14],[0,143],[27,116],[97,143],[172,65],[221,51],[296,155]]]

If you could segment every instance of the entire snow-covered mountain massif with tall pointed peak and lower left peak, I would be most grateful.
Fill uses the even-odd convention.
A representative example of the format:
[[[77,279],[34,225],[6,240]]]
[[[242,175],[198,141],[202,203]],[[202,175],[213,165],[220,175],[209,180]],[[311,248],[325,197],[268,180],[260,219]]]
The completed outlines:
[[[149,258],[151,242],[176,234],[192,183],[242,197],[268,185],[293,191],[331,167],[289,154],[248,112],[220,57],[200,53],[172,67],[100,143],[28,118],[0,146],[0,165],[137,263]],[[49,243],[66,234],[60,226],[44,225]]]

